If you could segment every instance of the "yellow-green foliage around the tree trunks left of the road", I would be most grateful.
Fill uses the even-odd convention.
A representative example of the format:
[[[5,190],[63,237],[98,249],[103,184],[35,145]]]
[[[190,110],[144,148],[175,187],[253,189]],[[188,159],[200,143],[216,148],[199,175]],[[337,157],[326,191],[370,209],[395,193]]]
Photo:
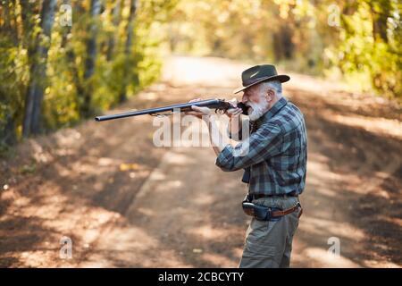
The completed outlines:
[[[177,1],[138,1],[130,26],[134,38],[126,53],[131,1],[100,1],[101,13],[95,17],[90,15],[91,0],[58,1],[51,37],[45,37],[40,28],[42,1],[0,0],[0,148],[21,139],[29,79],[45,87],[42,131],[80,122],[87,91],[89,109],[101,113],[120,104],[121,95],[132,97],[158,79],[163,38],[157,29],[168,21]],[[62,4],[71,4],[71,27],[62,25]],[[90,25],[96,29],[95,72],[84,79]],[[29,70],[33,63],[45,63],[36,53],[38,45],[49,47],[46,77],[40,78]]]

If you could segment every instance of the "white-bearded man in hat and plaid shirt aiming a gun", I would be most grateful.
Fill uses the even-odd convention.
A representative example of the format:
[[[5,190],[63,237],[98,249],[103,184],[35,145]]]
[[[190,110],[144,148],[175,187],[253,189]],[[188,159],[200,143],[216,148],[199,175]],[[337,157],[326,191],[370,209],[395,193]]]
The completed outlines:
[[[304,117],[282,95],[281,83],[290,80],[289,76],[278,75],[272,64],[251,67],[241,77],[243,87],[234,93],[244,92],[241,102],[248,107],[248,119],[241,118],[240,108],[226,113],[230,117],[229,136],[240,141],[236,147],[219,145],[222,134],[212,131],[217,125],[208,107],[192,106],[188,114],[208,125],[215,164],[222,171],[245,170],[242,181],[248,184],[248,195],[243,209],[253,218],[239,267],[289,267],[302,212],[298,195],[306,185]],[[245,122],[251,132],[241,136]]]

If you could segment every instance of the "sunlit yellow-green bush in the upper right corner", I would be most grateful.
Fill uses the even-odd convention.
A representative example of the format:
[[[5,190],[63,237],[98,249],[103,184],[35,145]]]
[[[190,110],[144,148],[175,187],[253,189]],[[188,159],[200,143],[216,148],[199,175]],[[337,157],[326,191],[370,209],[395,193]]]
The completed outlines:
[[[361,88],[375,88],[386,97],[402,97],[401,6],[397,1],[366,1],[342,15],[332,63],[349,81],[360,77]],[[382,29],[382,30],[381,30]]]

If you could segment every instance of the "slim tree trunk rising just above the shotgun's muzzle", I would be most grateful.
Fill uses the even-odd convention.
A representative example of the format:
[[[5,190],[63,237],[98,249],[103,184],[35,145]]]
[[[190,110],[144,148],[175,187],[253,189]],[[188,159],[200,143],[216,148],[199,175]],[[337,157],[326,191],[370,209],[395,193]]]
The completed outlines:
[[[89,24],[89,38],[87,41],[87,59],[85,61],[84,81],[88,81],[95,73],[96,62],[96,36],[97,36],[97,23],[96,19],[101,11],[100,0],[91,0],[90,15],[91,23]],[[91,114],[91,97],[92,97],[92,84],[88,84],[87,88],[82,95],[82,103],[80,104],[80,116],[85,118]]]

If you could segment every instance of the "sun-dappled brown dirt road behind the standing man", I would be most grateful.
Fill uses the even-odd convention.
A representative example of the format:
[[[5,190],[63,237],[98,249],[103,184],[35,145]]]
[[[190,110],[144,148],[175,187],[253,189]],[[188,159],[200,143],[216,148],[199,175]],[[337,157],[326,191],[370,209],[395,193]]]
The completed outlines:
[[[226,97],[247,67],[172,58],[163,80],[111,113]],[[402,265],[402,117],[387,100],[290,74],[306,115],[305,208],[293,267]],[[2,267],[236,267],[248,218],[241,172],[207,147],[155,147],[153,117],[83,122],[0,161]],[[72,258],[60,258],[71,238]],[[339,256],[328,253],[339,241]]]

